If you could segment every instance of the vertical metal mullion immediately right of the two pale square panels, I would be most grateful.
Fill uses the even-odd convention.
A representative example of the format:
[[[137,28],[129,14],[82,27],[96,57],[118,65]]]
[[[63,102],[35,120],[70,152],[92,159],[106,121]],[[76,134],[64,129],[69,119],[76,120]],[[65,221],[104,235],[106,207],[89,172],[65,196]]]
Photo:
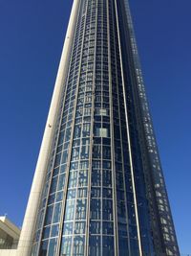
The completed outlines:
[[[113,13],[112,13],[113,14]],[[113,92],[112,92],[112,69],[111,69],[111,45],[110,45],[110,10],[109,0],[107,0],[107,39],[108,39],[108,71],[109,71],[109,95],[110,95],[110,131],[111,131],[111,159],[112,159],[112,179],[113,179],[113,216],[114,216],[114,242],[115,256],[118,255],[118,234],[117,234],[117,185],[115,166],[115,142],[114,142],[114,116],[113,116]]]

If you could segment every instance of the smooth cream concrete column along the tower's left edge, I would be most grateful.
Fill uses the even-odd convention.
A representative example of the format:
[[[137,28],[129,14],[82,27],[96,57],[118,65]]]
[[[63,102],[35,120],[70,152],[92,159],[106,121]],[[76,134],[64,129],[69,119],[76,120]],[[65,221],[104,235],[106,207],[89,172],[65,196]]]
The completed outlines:
[[[30,256],[31,252],[32,236],[38,214],[40,196],[43,190],[44,180],[47,173],[48,162],[53,144],[53,134],[61,100],[61,93],[63,91],[64,82],[66,81],[68,75],[68,67],[74,42],[74,31],[76,26],[79,3],[79,0],[74,0],[68,31],[66,34],[62,56],[60,59],[58,73],[53,90],[52,103],[50,106],[47,124],[45,127],[36,169],[33,176],[32,189],[27,205],[25,218],[23,221],[22,231],[17,249],[17,256]]]

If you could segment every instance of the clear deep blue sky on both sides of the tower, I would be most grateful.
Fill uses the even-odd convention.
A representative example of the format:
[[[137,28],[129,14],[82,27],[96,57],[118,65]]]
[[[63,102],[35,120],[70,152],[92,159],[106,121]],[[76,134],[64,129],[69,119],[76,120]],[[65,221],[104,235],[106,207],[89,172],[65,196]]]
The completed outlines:
[[[72,0],[0,0],[0,215],[22,224]],[[180,251],[191,253],[191,1],[130,0]]]

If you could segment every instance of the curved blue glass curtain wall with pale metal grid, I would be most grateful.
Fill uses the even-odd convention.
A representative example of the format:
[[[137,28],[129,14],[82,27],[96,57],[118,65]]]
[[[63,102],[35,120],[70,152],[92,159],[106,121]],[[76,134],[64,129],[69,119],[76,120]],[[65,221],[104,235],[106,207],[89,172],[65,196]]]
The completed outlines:
[[[119,2],[80,0],[32,256],[157,255]]]

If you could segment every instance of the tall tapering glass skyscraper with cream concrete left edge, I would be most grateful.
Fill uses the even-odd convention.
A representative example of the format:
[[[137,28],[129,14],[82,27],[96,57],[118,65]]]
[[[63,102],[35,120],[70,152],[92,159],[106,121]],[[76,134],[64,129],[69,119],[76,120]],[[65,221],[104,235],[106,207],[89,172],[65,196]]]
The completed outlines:
[[[127,0],[74,0],[18,255],[180,255]]]

